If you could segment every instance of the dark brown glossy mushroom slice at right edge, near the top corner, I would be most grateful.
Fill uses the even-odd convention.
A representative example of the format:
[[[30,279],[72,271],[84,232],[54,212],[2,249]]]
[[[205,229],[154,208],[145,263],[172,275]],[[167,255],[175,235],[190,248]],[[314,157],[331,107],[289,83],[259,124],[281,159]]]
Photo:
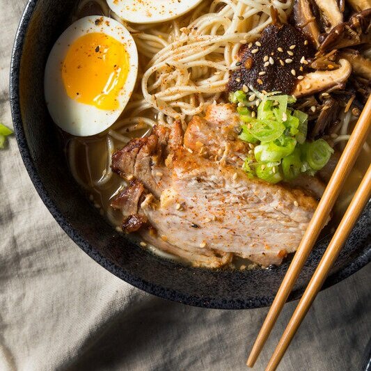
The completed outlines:
[[[338,24],[326,38],[319,50],[326,52],[332,49],[352,47],[371,41],[371,8],[356,13],[350,17],[349,22]]]

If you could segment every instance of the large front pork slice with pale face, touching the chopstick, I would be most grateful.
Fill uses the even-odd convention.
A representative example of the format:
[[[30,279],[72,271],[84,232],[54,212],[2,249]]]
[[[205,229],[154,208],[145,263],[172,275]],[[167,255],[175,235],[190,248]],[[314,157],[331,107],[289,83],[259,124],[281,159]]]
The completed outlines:
[[[236,253],[267,266],[297,249],[316,206],[303,191],[251,180],[180,148],[171,187],[158,207],[141,209],[168,244]]]

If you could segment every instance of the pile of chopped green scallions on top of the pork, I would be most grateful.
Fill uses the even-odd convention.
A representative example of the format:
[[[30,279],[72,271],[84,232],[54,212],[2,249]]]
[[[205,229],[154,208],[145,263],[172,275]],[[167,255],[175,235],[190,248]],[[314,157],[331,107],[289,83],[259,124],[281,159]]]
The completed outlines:
[[[327,164],[333,149],[324,139],[306,140],[308,115],[290,107],[296,102],[293,96],[250,94],[242,90],[230,94],[243,122],[239,139],[255,145],[254,155],[246,158],[242,167],[249,176],[277,183],[294,180],[301,173],[315,175]],[[256,104],[251,102],[255,100],[252,95],[258,97],[256,117],[251,110]]]

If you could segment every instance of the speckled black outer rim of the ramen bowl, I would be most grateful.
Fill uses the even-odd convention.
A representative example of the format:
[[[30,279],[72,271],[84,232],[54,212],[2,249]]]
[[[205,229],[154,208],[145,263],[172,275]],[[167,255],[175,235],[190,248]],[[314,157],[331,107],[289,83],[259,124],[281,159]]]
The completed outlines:
[[[101,265],[104,269],[110,271],[112,274],[129,283],[130,285],[133,285],[134,287],[137,287],[150,294],[154,294],[157,297],[161,297],[162,299],[168,299],[190,306],[213,309],[251,309],[269,306],[274,299],[274,295],[268,295],[267,297],[265,297],[264,300],[260,298],[256,298],[257,300],[251,300],[251,298],[210,300],[202,297],[194,297],[189,294],[184,294],[173,289],[162,287],[155,283],[150,283],[143,280],[143,278],[140,278],[139,276],[134,276],[134,274],[126,272],[118,265],[113,264],[111,260],[106,258],[104,255],[101,255],[97,250],[95,250],[93,246],[86,242],[86,240],[81,237],[81,235],[79,235],[79,232],[72,226],[70,226],[68,223],[61,223],[65,220],[65,216],[63,216],[61,210],[58,210],[58,207],[49,196],[47,190],[42,184],[42,179],[38,174],[35,165],[33,164],[29,145],[26,140],[26,134],[24,132],[19,100],[19,72],[21,68],[22,51],[26,33],[29,28],[29,22],[38,1],[39,0],[29,0],[28,3],[26,3],[26,7],[24,8],[24,12],[22,13],[22,17],[17,28],[17,33],[15,35],[15,42],[13,45],[10,63],[10,109],[13,119],[15,136],[17,139],[17,145],[22,157],[22,161],[24,162],[24,166],[26,167],[26,171],[27,173],[29,173],[29,177],[31,178],[33,187],[35,187],[42,202],[45,204],[54,219],[56,219],[58,225],[61,226],[64,232],[70,237],[70,239],[72,239],[75,244],[77,244],[77,246],[79,246],[79,248],[81,248],[87,255],[90,256],[90,258],[95,260],[95,262]],[[342,269],[336,271],[328,278],[326,278],[326,281],[321,290],[325,290],[326,288],[339,283],[340,281],[354,274],[359,269],[363,268],[369,262],[371,262],[371,248],[367,251],[364,251],[361,255],[358,255],[356,259],[349,262],[348,265],[342,267]],[[299,299],[304,290],[305,287],[294,290],[289,297],[289,301]],[[260,303],[259,305],[257,305],[257,301]]]

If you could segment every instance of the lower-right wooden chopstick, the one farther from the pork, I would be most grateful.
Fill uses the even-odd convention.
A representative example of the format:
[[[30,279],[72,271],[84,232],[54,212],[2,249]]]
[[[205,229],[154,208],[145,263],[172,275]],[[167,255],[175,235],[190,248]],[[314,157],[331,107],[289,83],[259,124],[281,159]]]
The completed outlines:
[[[301,300],[299,301],[299,304],[295,309],[290,322],[287,324],[285,332],[283,333],[281,340],[278,342],[274,354],[271,356],[271,360],[267,365],[266,371],[276,370],[278,364],[281,362],[281,359],[283,358],[287,347],[290,345],[292,338],[294,337],[297,329],[306,316],[306,313],[313,303],[315,296],[324,284],[324,280],[329,274],[329,271],[333,266],[336,258],[338,258],[342,246],[349,237],[350,232],[352,232],[352,228],[356,223],[358,216],[361,214],[363,207],[365,207],[365,204],[370,199],[370,196],[371,165],[368,168],[365,177],[363,177],[363,180],[358,187],[356,194],[354,195],[352,203],[350,203],[347,212],[345,212],[342,221],[340,221],[338,229],[333,235],[329,246],[326,248],[323,257],[319,262],[317,269],[315,270],[315,274],[313,274],[313,277],[310,280],[308,287],[303,294],[303,297],[301,297]]]

